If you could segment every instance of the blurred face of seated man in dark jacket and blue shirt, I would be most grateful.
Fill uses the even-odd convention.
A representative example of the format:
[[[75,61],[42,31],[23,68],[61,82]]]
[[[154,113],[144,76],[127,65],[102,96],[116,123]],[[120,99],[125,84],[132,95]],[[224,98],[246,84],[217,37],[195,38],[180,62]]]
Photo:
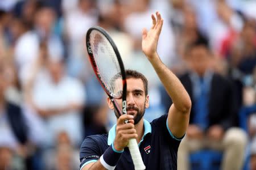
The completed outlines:
[[[199,75],[204,75],[209,67],[209,52],[205,46],[195,46],[191,49],[188,56],[191,69]]]

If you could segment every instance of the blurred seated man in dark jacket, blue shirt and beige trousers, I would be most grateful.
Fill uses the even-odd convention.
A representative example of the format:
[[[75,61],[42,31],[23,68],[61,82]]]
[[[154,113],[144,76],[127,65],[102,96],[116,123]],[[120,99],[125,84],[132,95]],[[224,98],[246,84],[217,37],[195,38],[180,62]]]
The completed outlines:
[[[178,151],[178,169],[189,169],[189,154],[204,148],[224,152],[221,169],[241,169],[243,165],[247,137],[245,131],[233,128],[236,96],[232,83],[214,73],[211,55],[205,39],[187,48],[190,70],[180,80],[193,105],[187,134]]]

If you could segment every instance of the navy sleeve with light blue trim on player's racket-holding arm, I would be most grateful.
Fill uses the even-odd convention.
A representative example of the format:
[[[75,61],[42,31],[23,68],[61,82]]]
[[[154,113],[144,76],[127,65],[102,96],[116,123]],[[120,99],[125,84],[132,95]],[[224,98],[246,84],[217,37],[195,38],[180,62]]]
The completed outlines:
[[[100,147],[93,137],[86,137],[80,148],[80,169],[100,159]]]

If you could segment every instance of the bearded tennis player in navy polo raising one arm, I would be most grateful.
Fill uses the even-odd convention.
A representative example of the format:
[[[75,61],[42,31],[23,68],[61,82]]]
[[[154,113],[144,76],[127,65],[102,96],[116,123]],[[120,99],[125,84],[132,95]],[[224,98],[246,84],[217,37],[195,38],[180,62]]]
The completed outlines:
[[[108,134],[85,138],[80,150],[80,169],[134,169],[127,144],[129,139],[137,139],[144,165],[147,169],[177,169],[177,150],[188,127],[191,100],[179,79],[160,60],[156,47],[163,25],[159,12],[151,15],[152,27],[143,29],[142,50],[151,62],[163,83],[173,104],[168,114],[156,118],[151,123],[143,114],[149,107],[147,79],[134,70],[126,70],[127,114],[119,116],[117,124]],[[120,79],[115,79],[118,86]],[[117,103],[121,107],[122,99]],[[110,109],[114,109],[108,98]],[[125,120],[129,120],[127,124]]]

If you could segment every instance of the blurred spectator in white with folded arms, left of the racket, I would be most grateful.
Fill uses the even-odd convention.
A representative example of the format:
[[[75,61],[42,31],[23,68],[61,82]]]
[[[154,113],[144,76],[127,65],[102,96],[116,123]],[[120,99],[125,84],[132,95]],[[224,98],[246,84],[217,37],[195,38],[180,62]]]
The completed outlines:
[[[26,96],[32,108],[44,118],[44,147],[55,146],[55,138],[61,131],[68,134],[72,146],[79,146],[84,87],[79,80],[66,74],[61,54],[49,53],[46,45],[42,45],[34,69],[26,86]]]

